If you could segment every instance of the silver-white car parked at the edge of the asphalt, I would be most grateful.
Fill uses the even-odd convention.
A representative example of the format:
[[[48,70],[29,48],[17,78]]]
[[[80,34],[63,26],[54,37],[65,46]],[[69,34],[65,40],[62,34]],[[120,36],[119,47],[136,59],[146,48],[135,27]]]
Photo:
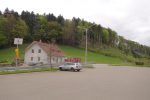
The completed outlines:
[[[61,66],[59,66],[59,70],[71,70],[71,71],[80,71],[82,69],[82,66],[80,63],[72,63],[67,62]]]

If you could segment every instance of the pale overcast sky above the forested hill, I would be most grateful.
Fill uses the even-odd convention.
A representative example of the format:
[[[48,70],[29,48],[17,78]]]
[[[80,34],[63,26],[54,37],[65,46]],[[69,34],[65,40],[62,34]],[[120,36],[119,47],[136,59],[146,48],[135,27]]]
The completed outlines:
[[[110,27],[126,39],[150,46],[149,0],[0,0],[0,10],[6,7],[43,14],[63,15],[67,19],[80,17]]]

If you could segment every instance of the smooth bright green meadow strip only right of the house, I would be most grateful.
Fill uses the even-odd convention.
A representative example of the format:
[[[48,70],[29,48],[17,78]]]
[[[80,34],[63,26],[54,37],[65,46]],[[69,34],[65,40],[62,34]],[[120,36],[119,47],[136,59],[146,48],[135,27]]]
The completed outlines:
[[[74,48],[70,46],[61,45],[60,48],[65,52],[68,57],[79,57],[84,62],[85,51],[83,49]],[[99,53],[88,51],[88,62],[92,63],[107,63],[107,64],[122,64],[123,60],[116,57],[109,57]]]

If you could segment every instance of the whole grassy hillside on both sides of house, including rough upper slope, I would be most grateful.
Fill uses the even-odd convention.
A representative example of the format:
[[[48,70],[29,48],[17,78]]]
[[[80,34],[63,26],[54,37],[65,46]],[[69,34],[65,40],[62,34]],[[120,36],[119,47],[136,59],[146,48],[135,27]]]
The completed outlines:
[[[24,58],[25,48],[28,44],[19,46],[21,59]],[[79,57],[82,62],[84,62],[84,49],[74,48],[65,45],[59,45],[59,47],[64,51],[67,57]],[[9,63],[14,61],[15,57],[15,47],[0,49],[0,61],[7,60]],[[100,50],[98,53],[88,51],[87,60],[89,63],[105,63],[113,65],[134,65],[136,60],[132,56],[127,56],[123,54],[120,50],[115,48],[108,48]]]

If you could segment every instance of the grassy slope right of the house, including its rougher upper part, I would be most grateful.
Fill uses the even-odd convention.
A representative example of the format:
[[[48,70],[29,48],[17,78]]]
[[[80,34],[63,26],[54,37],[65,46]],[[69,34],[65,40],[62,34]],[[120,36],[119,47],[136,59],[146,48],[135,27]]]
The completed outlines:
[[[68,57],[79,57],[84,62],[85,49],[70,47],[66,45],[59,46]],[[89,48],[87,60],[90,63],[102,63],[111,65],[129,65],[135,66],[135,62],[144,62],[144,66],[150,66],[150,59],[134,58],[132,55],[126,55],[117,48],[91,49]]]

